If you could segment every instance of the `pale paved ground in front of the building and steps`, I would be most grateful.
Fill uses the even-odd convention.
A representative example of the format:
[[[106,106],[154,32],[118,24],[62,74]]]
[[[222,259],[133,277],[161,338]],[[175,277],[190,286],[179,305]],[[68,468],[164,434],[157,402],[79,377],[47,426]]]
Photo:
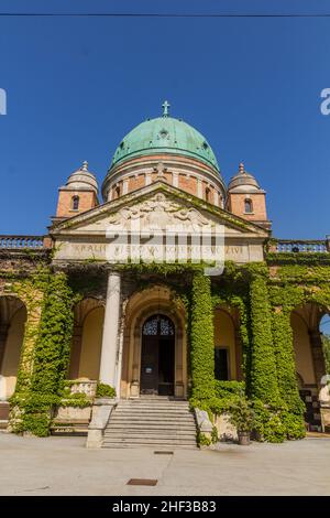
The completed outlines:
[[[0,495],[330,495],[330,439],[174,455],[84,445],[0,433]],[[128,486],[130,478],[158,483]]]

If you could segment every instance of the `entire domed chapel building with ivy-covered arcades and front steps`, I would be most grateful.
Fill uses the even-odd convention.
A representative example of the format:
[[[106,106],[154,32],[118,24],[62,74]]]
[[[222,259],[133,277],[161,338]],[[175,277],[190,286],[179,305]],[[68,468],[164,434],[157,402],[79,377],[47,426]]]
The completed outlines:
[[[234,436],[245,393],[256,438],[326,431],[330,241],[273,237],[266,179],[240,163],[227,185],[165,101],[101,185],[87,162],[68,176],[45,236],[0,236],[1,427],[195,447]]]

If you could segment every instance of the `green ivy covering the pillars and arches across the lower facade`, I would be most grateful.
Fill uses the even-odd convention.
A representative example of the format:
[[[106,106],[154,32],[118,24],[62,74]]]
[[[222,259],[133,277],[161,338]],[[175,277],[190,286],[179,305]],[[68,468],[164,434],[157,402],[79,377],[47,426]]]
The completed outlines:
[[[86,265],[85,291],[91,267]],[[330,311],[330,266],[276,263],[271,257],[270,263],[227,263],[219,279],[205,276],[202,268],[182,265],[125,266],[122,270],[141,288],[161,279],[184,302],[189,315],[193,406],[221,413],[245,390],[256,413],[257,438],[279,442],[304,436],[290,313],[308,302]],[[7,292],[16,293],[28,311],[12,398],[13,431],[48,433],[52,409],[65,391],[73,307],[84,291],[77,279],[73,283],[73,278],[48,267],[35,268],[20,279],[7,276]],[[100,290],[99,276],[94,274],[94,291]],[[238,385],[215,381],[213,311],[224,304],[239,314],[243,381]]]

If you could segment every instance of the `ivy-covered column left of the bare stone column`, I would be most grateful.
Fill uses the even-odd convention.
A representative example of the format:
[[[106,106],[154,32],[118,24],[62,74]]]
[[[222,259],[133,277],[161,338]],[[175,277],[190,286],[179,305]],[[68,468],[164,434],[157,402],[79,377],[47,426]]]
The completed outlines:
[[[48,274],[35,336],[29,391],[20,392],[22,384],[19,384],[11,401],[12,406],[20,409],[14,431],[31,432],[38,436],[48,434],[52,411],[61,402],[65,388],[74,324],[73,304],[73,292],[67,285],[66,274]]]

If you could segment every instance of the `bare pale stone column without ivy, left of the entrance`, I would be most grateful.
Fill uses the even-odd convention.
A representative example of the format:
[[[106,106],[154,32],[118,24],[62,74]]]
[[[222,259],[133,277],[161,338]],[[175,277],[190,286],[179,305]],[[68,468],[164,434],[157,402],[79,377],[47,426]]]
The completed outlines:
[[[100,381],[114,387],[118,364],[119,313],[120,313],[121,278],[118,272],[110,272],[103,324]]]

